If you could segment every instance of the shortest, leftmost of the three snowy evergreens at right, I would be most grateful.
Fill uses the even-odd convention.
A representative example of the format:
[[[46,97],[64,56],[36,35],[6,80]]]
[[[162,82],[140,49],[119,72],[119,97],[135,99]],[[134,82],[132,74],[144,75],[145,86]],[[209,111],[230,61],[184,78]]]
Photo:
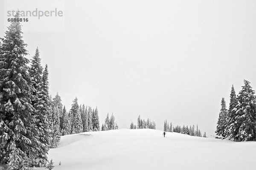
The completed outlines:
[[[225,138],[225,127],[227,127],[227,107],[225,99],[221,99],[221,111],[217,122],[216,135],[223,136]]]

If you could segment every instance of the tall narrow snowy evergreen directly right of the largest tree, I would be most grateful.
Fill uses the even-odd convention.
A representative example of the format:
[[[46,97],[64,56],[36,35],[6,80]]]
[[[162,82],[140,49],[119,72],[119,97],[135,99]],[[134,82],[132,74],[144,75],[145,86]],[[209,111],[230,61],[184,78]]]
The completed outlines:
[[[29,75],[33,81],[35,88],[34,95],[37,97],[32,105],[35,108],[35,128],[38,132],[38,156],[36,156],[36,166],[42,166],[47,163],[47,152],[49,150],[50,136],[49,136],[49,123],[48,123],[48,100],[46,98],[44,82],[42,82],[43,67],[41,66],[41,58],[39,50],[36,48],[35,55],[32,57],[31,66],[29,68]],[[48,88],[48,86],[46,86]],[[48,91],[47,91],[48,92]],[[49,95],[48,95],[49,96]]]

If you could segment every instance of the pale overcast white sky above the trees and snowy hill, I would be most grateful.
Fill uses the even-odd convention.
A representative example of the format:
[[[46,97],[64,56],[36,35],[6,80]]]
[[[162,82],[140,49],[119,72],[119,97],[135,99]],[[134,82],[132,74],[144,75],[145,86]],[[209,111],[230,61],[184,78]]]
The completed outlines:
[[[113,112],[119,128],[140,115],[157,129],[167,119],[212,135],[232,84],[236,94],[243,79],[256,89],[255,9],[254,0],[72,0],[64,31],[23,37],[30,56],[38,46],[50,93],[68,109],[77,96],[98,106],[101,124]]]

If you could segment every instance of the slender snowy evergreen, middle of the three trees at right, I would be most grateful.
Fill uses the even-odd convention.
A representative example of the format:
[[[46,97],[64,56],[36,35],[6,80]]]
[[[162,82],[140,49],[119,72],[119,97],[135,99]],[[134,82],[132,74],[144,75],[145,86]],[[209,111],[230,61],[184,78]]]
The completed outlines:
[[[238,105],[238,101],[236,99],[236,92],[234,86],[232,85],[230,92],[230,105],[227,112],[227,125],[225,127],[225,136],[230,139],[230,133],[232,133],[231,126],[235,124],[235,116],[236,110],[234,109]]]

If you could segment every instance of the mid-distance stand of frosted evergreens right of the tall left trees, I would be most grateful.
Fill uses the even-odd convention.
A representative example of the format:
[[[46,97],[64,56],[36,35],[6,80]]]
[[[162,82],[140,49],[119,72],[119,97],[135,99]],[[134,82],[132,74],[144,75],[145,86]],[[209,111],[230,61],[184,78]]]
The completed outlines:
[[[92,109],[90,106],[85,107],[84,104],[79,106],[78,99],[75,98],[69,113],[67,113],[66,107],[61,104],[61,97],[58,93],[53,98],[52,107],[51,126],[55,135],[51,148],[58,146],[62,135],[100,130],[97,107]]]

